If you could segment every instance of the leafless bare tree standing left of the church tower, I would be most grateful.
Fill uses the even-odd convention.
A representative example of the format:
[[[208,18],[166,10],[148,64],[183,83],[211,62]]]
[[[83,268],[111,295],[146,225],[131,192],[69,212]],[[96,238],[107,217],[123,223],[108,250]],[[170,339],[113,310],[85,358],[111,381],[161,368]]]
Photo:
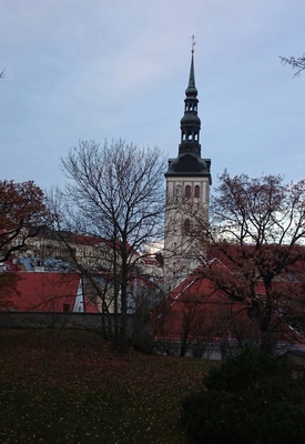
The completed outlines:
[[[163,235],[164,165],[159,149],[140,149],[121,140],[103,145],[80,141],[62,159],[69,182],[61,215],[70,231],[102,239],[111,251],[110,265],[100,276],[111,283],[113,311],[121,319],[116,340],[122,343],[126,341],[129,281],[139,252]]]

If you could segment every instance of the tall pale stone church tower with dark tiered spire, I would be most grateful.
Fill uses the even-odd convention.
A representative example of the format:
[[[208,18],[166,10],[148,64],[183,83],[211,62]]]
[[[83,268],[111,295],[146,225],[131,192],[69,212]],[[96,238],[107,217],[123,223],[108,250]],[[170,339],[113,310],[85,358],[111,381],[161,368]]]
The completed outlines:
[[[202,222],[209,220],[211,160],[201,157],[197,104],[193,42],[184,115],[180,121],[179,154],[175,159],[169,159],[165,173],[164,279],[171,287],[199,266],[197,236],[192,234],[197,230],[200,220],[201,226]]]

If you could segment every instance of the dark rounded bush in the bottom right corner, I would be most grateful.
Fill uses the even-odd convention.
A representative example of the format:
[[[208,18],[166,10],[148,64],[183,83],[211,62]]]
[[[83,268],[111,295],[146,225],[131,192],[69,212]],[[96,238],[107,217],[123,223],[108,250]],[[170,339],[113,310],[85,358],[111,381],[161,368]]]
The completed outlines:
[[[213,367],[182,402],[189,435],[205,444],[305,443],[304,381],[277,357],[247,349]]]

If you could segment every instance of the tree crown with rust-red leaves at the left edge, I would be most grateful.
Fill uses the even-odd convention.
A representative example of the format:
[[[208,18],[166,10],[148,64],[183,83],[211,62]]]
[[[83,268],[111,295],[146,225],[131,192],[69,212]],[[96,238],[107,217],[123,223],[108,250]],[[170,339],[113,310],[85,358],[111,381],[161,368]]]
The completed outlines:
[[[21,251],[48,219],[43,192],[33,181],[0,181],[0,260]]]

